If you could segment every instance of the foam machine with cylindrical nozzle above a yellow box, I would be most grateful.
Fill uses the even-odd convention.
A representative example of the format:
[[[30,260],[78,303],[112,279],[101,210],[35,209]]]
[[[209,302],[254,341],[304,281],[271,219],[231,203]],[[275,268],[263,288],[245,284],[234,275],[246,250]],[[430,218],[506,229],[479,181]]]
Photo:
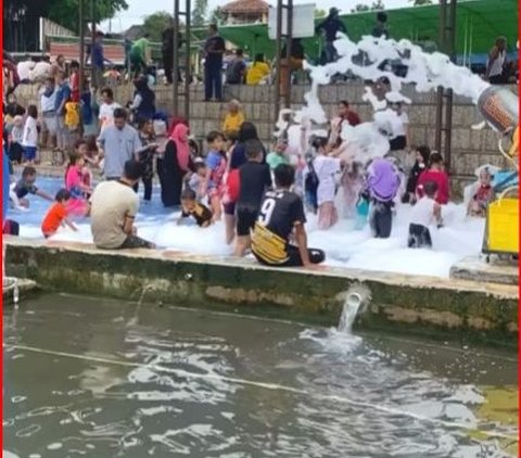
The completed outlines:
[[[495,198],[486,209],[483,253],[490,262],[491,254],[511,258],[519,253],[519,100],[510,90],[491,86],[480,96],[478,107],[501,133],[498,149],[509,168],[495,180]]]

